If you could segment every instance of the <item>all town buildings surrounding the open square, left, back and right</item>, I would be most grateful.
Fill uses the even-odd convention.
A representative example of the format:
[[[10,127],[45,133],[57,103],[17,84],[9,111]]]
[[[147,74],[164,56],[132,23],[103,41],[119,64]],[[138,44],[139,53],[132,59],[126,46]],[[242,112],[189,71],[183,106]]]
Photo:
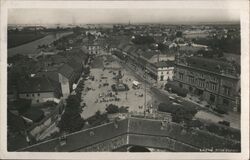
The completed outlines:
[[[36,72],[19,78],[14,85],[8,83],[8,108],[10,102],[18,99],[27,99],[36,105],[67,98],[80,77],[89,72],[92,58],[113,54],[134,66],[135,70],[145,73],[147,77],[144,78],[153,79],[157,85],[173,83],[214,108],[226,106],[232,111],[240,111],[239,66],[225,59],[199,55],[198,51],[207,51],[209,46],[190,41],[197,36],[209,37],[214,33],[213,29],[188,30],[184,27],[183,36],[175,37],[179,29],[176,26],[117,25],[107,33],[95,28],[86,31],[86,35],[74,34],[76,37],[61,39],[57,45],[63,46],[65,51],[43,51],[32,57],[37,64],[34,67],[38,66]],[[229,33],[224,31],[223,35]],[[131,41],[134,35],[151,36],[155,42],[135,44]],[[165,49],[159,49],[159,44]],[[10,69],[13,66],[8,64]],[[12,113],[10,115],[16,119]]]

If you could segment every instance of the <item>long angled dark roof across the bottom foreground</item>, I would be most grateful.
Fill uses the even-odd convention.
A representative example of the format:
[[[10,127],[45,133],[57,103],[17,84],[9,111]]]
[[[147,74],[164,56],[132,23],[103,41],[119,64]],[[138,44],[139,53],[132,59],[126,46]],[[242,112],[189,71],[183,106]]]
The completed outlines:
[[[121,145],[142,145],[142,146],[163,146],[169,147],[165,142],[159,140],[160,137],[177,140],[177,143],[189,145],[197,150],[202,148],[230,148],[240,150],[240,142],[231,139],[225,139],[205,131],[190,129],[169,122],[162,129],[162,120],[150,120],[141,118],[129,118],[117,121],[116,124],[108,123],[95,128],[78,131],[66,136],[66,144],[58,148],[59,151],[79,151],[88,148],[97,143],[105,142],[112,138],[123,136],[125,143]],[[130,134],[129,134],[130,133]],[[146,136],[146,137],[144,137]],[[143,138],[144,137],[144,138]],[[81,139],[79,141],[79,139]],[[209,141],[207,141],[209,139]],[[83,143],[84,142],[84,143]],[[21,151],[54,151],[58,146],[59,138],[51,139],[47,142],[39,143],[34,146],[22,149]],[[111,147],[112,148],[112,147]],[[110,149],[111,149],[110,148]],[[104,148],[94,147],[90,151],[98,151]],[[107,149],[107,148],[105,148]],[[109,149],[109,148],[108,148]],[[172,148],[174,151],[184,151],[184,148]],[[190,148],[189,148],[190,149]]]

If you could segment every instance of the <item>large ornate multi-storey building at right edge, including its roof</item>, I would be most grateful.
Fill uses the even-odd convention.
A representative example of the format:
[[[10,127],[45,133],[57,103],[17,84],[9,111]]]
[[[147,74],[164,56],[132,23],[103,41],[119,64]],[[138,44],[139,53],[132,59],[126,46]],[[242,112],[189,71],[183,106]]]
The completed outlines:
[[[240,71],[232,64],[204,57],[177,55],[174,81],[210,106],[240,110]]]

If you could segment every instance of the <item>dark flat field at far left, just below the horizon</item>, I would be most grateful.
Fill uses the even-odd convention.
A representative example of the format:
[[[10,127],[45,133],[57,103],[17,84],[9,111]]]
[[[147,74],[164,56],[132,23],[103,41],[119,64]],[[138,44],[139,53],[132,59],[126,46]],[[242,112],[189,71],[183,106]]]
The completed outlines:
[[[35,32],[8,33],[8,48],[13,48],[43,38],[45,34]]]

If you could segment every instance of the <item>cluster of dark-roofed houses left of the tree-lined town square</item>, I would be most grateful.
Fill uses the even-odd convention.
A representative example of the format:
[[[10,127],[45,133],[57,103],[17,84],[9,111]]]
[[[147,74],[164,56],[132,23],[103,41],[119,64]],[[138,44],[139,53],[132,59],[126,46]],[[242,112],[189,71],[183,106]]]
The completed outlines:
[[[40,68],[36,73],[20,79],[15,86],[8,85],[8,101],[23,98],[37,104],[68,97],[86,72],[88,54],[74,49],[64,55],[41,55],[37,57],[37,63]]]

